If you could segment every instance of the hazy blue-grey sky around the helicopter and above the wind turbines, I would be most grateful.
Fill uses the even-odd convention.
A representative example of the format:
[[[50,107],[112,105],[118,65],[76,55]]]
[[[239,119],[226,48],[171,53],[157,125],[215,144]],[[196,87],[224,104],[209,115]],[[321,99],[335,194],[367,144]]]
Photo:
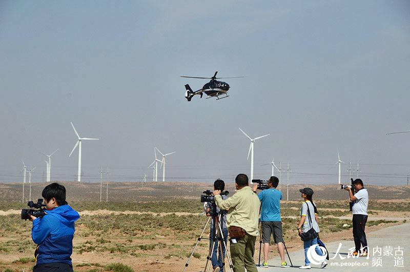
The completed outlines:
[[[290,161],[291,182],[337,182],[359,160],[365,183],[410,172],[408,1],[0,1],[0,181],[140,181],[153,147],[176,151],[169,180],[232,181]],[[184,98],[180,75],[226,80],[230,98]],[[283,167],[285,168],[285,167]],[[343,165],[343,180],[348,180]],[[158,174],[161,179],[161,171]],[[285,174],[282,173],[282,180]]]

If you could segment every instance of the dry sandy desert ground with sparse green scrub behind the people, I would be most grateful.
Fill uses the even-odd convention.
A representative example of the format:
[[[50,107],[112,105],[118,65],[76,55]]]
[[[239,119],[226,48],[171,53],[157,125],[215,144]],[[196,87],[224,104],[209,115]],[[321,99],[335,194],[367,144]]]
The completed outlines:
[[[196,182],[109,183],[99,202],[99,183],[60,182],[67,188],[67,201],[79,211],[73,248],[74,271],[182,271],[207,221],[200,215],[203,190],[212,184]],[[41,198],[46,183],[32,184],[32,199]],[[282,201],[281,216],[286,246],[300,250],[296,235],[301,205],[299,188],[309,186],[319,209],[321,239],[324,242],[352,240],[351,214],[347,192],[336,185],[292,185],[289,201]],[[365,186],[370,195],[366,232],[400,225],[410,219],[410,186]],[[234,184],[228,183],[230,195]],[[282,193],[285,196],[284,186]],[[29,184],[0,184],[0,270],[31,271],[35,244],[30,221],[20,219],[27,207]],[[207,226],[204,237],[209,237]],[[272,241],[273,242],[273,241]],[[195,250],[188,271],[204,268],[209,240]],[[353,241],[351,241],[353,244]],[[259,256],[259,237],[255,246]],[[271,247],[270,258],[277,256]]]

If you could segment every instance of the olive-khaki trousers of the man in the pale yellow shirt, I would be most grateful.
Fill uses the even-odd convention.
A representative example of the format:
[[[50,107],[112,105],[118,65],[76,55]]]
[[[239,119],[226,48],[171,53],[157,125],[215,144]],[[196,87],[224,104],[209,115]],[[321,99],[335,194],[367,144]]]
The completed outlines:
[[[255,252],[256,237],[246,234],[243,238],[236,239],[236,243],[231,242],[231,257],[235,272],[258,272],[253,255]]]

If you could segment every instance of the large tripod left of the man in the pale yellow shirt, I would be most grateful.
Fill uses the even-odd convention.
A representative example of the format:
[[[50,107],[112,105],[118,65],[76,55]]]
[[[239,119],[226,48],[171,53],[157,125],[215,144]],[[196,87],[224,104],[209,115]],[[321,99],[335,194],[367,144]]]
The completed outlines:
[[[218,243],[218,246],[217,246],[217,247],[219,248],[219,250],[220,250],[221,253],[223,252],[223,248],[225,248],[225,252],[226,252],[226,255],[227,255],[227,258],[228,258],[228,262],[229,262],[229,267],[231,268],[231,272],[233,272],[233,267],[234,267],[234,266],[233,266],[232,260],[231,260],[231,258],[230,258],[230,256],[229,256],[229,252],[228,252],[228,249],[227,249],[227,244],[225,243],[225,240],[224,240],[224,237],[223,237],[223,232],[222,232],[222,226],[221,226],[221,224],[223,225],[224,212],[223,212],[222,210],[220,210],[219,212],[217,212],[217,210],[216,210],[216,203],[215,203],[215,202],[212,202],[211,205],[212,205],[212,206],[211,206],[212,216],[210,216],[210,217],[208,218],[208,220],[207,220],[207,223],[205,223],[205,225],[204,225],[204,227],[203,227],[203,229],[202,229],[202,232],[201,232],[201,234],[199,235],[199,237],[198,237],[198,239],[197,239],[197,242],[196,242],[196,244],[195,244],[195,246],[194,246],[194,249],[192,250],[191,255],[190,255],[190,257],[188,258],[188,261],[187,261],[187,263],[185,264],[185,268],[183,268],[183,271],[182,271],[182,272],[185,272],[185,270],[187,269],[187,267],[188,267],[188,265],[189,265],[189,262],[190,262],[192,256],[194,255],[195,249],[196,249],[196,247],[198,246],[199,242],[201,241],[202,236],[203,236],[203,233],[204,233],[205,230],[207,229],[207,226],[208,226],[209,221],[211,220],[211,218],[213,218],[213,228],[212,228],[212,233],[211,233],[211,236],[212,236],[212,246],[210,246],[209,254],[208,254],[208,256],[207,256],[207,262],[206,262],[206,264],[205,264],[205,267],[204,267],[204,269],[203,269],[203,272],[207,272],[207,271],[209,272],[209,271],[210,271],[210,267],[211,267],[211,264],[212,264],[212,262],[210,262],[210,260],[212,259],[212,255],[213,255],[213,252],[214,252],[215,243]],[[221,220],[221,219],[222,219],[222,222],[220,223],[220,220]],[[211,240],[210,238],[204,238],[204,239]],[[222,248],[222,245],[223,245],[223,248]],[[218,252],[218,250],[217,250],[217,252]],[[222,254],[222,255],[223,255],[223,254]],[[224,256],[224,255],[223,255],[222,265],[223,265],[223,268],[225,268],[225,256]]]

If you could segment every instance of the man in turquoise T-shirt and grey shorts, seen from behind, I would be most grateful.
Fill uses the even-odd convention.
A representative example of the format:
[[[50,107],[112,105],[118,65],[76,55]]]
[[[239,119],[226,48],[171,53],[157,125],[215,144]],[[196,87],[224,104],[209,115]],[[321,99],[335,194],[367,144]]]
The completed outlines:
[[[282,192],[276,190],[279,184],[277,177],[271,177],[268,180],[268,189],[262,190],[259,194],[261,201],[260,221],[262,222],[262,241],[263,241],[263,267],[269,267],[268,253],[271,235],[273,235],[275,243],[278,245],[278,251],[282,267],[289,267],[285,261],[283,237],[282,237],[282,219],[280,218],[280,200]],[[256,191],[258,184],[254,184]]]

